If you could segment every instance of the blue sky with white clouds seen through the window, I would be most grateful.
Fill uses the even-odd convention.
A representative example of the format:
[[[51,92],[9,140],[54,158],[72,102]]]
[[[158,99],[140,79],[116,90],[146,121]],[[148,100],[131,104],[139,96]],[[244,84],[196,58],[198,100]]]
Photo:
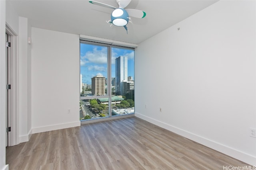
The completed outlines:
[[[91,84],[91,78],[97,74],[107,78],[107,50],[104,46],[80,43],[80,74],[83,83]],[[122,55],[128,57],[128,76],[134,79],[134,50],[112,48],[111,53],[111,77],[115,77],[115,59]]]

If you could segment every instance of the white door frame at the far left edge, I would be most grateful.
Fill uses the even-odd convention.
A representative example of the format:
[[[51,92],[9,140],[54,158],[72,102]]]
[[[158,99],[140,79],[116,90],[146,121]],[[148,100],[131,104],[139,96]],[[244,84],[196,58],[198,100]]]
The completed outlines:
[[[6,33],[10,35],[10,82],[11,82],[11,101],[10,112],[8,113],[8,127],[11,131],[8,133],[8,146],[19,144],[19,131],[18,131],[18,80],[19,80],[19,67],[18,67],[18,34],[6,23]]]

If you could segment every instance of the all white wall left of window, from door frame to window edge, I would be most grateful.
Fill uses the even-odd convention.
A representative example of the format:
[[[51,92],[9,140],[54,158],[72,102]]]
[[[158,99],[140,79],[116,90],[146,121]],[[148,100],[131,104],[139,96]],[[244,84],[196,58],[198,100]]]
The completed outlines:
[[[76,114],[79,113],[79,90],[76,90],[79,89],[79,35],[36,28],[32,35],[28,19],[19,17],[9,1],[6,2],[6,23],[18,35],[19,139],[16,144],[28,141],[32,133],[80,125],[79,114]],[[41,30],[39,34],[38,30]],[[32,38],[31,44],[28,44],[28,37]],[[56,65],[49,67],[54,64],[52,61]],[[58,76],[55,78],[52,74]],[[43,95],[38,97],[40,93]],[[69,108],[71,114],[67,113]]]

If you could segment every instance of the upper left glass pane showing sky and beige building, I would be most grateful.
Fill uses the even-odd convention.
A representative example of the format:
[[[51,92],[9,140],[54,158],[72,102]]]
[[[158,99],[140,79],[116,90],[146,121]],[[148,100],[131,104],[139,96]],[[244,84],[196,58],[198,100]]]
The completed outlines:
[[[80,43],[80,96],[107,95],[108,47]]]

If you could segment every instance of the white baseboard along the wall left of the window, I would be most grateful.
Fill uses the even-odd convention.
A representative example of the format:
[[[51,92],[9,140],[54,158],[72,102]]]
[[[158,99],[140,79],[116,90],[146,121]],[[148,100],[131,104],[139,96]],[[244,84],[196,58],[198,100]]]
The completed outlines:
[[[34,127],[32,129],[32,133],[34,134],[34,133],[54,131],[54,130],[59,130],[59,129],[66,129],[66,128],[70,128],[70,127],[77,127],[80,125],[81,125],[80,121],[75,121],[75,122],[62,123],[62,124],[57,124],[57,125]]]

